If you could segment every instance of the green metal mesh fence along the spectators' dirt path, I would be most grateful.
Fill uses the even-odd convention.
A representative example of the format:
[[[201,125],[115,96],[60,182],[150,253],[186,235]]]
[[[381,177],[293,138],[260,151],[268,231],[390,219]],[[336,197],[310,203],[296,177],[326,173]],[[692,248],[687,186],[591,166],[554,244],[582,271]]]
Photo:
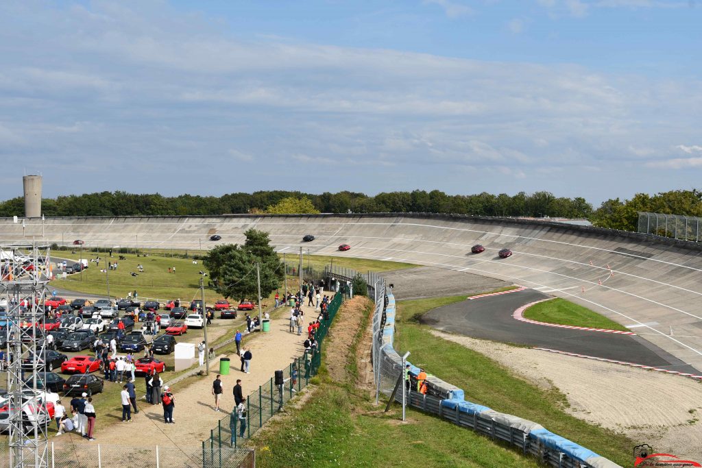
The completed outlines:
[[[304,354],[293,359],[286,368],[278,371],[277,375],[270,377],[267,383],[246,397],[246,420],[241,424],[236,408],[218,420],[217,426],[210,430],[208,439],[202,442],[202,449],[207,452],[216,452],[223,448],[238,448],[249,439],[263,424],[270,420],[285,403],[298,392],[307,387],[310,379],[317,375],[319,366],[322,365],[322,349],[324,338],[329,333],[329,327],[343,302],[342,294],[335,294],[327,307],[328,315],[324,316],[319,328],[314,333],[317,341],[316,349],[305,351]],[[242,427],[243,425],[243,427]],[[216,467],[229,465],[215,464]]]

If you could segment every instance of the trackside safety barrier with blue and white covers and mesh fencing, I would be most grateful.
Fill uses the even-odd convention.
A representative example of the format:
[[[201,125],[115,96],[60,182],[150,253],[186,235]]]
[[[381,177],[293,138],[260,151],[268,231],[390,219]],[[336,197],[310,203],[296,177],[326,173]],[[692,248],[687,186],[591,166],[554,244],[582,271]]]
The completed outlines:
[[[403,360],[395,351],[395,297],[385,293],[385,281],[374,284],[376,309],[373,314],[373,372],[376,379],[376,401],[380,394],[393,396],[402,404]],[[618,464],[597,455],[577,443],[564,439],[544,429],[541,424],[521,417],[499,413],[486,406],[465,401],[462,389],[443,380],[427,375],[426,393],[417,392],[416,382],[420,369],[409,364],[411,380],[406,403],[412,408],[443,417],[462,427],[473,429],[492,439],[515,446],[524,455],[534,455],[557,468],[615,468]]]

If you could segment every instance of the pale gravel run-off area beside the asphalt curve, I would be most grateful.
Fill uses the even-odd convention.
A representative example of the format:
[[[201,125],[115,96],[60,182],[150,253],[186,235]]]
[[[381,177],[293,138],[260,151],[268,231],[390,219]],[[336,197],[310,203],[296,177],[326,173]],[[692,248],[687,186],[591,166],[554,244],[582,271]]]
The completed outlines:
[[[694,380],[432,333],[489,356],[539,387],[556,387],[567,396],[567,412],[582,420],[648,443],[658,452],[702,462],[702,385]]]

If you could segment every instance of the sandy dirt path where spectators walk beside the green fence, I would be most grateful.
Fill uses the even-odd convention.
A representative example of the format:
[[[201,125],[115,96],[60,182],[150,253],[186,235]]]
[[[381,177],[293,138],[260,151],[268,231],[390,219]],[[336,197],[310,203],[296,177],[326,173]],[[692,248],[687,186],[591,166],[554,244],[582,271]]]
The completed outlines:
[[[293,358],[303,353],[302,342],[305,340],[305,328],[303,335],[289,333],[289,308],[283,309],[279,318],[271,319],[270,333],[255,333],[253,339],[247,342],[244,337],[242,347],[249,347],[253,354],[251,359],[251,373],[245,374],[239,371],[239,357],[232,354],[232,370],[230,375],[223,375],[224,394],[220,401],[222,411],[214,411],[214,399],[211,394],[212,382],[218,372],[219,359],[217,356],[211,362],[210,375],[208,377],[188,377],[184,382],[195,379],[196,382],[189,382],[184,391],[178,392],[176,385],[173,392],[176,396],[176,408],[173,412],[173,419],[176,424],[164,424],[163,410],[161,405],[151,406],[140,401],[138,406],[140,413],[133,416],[131,423],[112,424],[106,429],[100,428],[100,423],[95,429],[95,438],[98,441],[119,441],[126,435],[140,434],[148,440],[151,446],[158,445],[165,450],[178,450],[178,446],[199,447],[203,439],[209,436],[210,429],[216,427],[217,421],[232,410],[234,397],[232,387],[236,380],[241,379],[244,388],[244,395],[258,389],[273,376],[275,370],[288,366]],[[317,319],[319,312],[314,312],[314,307],[304,307],[305,321]],[[137,380],[138,389],[143,390],[143,380]],[[98,396],[99,398],[99,396]],[[114,401],[115,408],[119,408],[120,402]],[[226,412],[226,413],[225,413]],[[106,416],[114,417],[114,416]],[[75,443],[84,443],[80,436],[70,434],[68,437],[61,436],[54,438],[55,443],[66,443],[72,439]]]

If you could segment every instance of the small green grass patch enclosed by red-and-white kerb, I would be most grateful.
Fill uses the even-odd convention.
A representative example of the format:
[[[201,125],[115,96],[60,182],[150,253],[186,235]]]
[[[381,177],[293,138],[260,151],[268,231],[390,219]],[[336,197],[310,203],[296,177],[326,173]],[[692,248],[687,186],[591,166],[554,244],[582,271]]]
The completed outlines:
[[[616,321],[560,297],[529,307],[524,311],[524,317],[541,322],[559,323],[560,325],[629,331],[628,328],[616,323]]]

